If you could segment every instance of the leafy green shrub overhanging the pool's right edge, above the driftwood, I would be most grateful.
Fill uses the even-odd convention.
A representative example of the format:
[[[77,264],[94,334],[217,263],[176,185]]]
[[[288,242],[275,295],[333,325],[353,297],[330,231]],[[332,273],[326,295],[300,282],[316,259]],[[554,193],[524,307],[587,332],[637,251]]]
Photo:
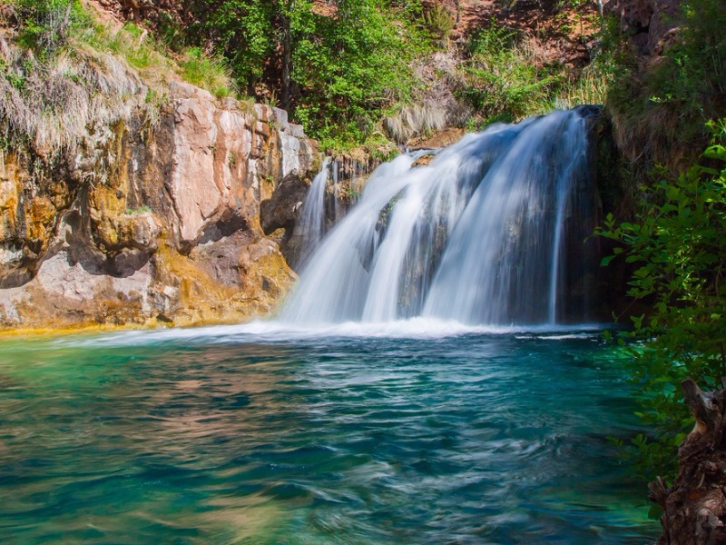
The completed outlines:
[[[692,377],[712,390],[726,376],[726,119],[709,126],[702,163],[643,189],[639,222],[616,225],[610,215],[599,232],[622,243],[615,254],[637,265],[629,293],[652,302],[650,315],[633,317],[628,337],[639,341],[630,350],[643,392],[640,416],[654,429],[635,446],[643,468],[660,474],[672,475],[676,447],[692,425],[681,381]]]

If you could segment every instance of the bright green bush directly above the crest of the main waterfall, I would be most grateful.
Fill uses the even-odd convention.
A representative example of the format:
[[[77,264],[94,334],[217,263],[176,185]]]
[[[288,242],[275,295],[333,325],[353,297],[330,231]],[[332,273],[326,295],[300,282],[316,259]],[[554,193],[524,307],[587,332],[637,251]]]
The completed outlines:
[[[495,20],[469,43],[467,84],[458,94],[491,121],[516,121],[553,108],[564,84],[559,65],[545,64],[509,28]]]

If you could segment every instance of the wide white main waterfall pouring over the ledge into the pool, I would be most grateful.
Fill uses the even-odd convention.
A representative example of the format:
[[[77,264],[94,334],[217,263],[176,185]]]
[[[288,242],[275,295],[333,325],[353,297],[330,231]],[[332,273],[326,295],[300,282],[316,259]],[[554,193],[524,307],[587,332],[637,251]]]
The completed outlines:
[[[410,154],[381,165],[283,320],[560,321],[572,247],[594,225],[586,136],[584,114],[554,112],[467,134],[426,166]]]

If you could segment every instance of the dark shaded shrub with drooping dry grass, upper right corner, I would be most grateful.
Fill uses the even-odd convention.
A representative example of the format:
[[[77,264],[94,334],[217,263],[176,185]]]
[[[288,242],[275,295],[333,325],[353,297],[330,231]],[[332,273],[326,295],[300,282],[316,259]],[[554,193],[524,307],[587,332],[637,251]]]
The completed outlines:
[[[682,3],[679,27],[645,70],[634,56],[611,86],[619,145],[632,158],[680,166],[708,142],[703,122],[726,115],[726,8]]]

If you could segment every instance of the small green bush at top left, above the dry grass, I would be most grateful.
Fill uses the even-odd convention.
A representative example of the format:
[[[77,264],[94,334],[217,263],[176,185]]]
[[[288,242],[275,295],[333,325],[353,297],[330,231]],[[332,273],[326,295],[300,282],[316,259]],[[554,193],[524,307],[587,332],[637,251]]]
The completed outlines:
[[[19,41],[40,57],[54,54],[74,29],[88,25],[79,0],[15,0],[15,7]]]

